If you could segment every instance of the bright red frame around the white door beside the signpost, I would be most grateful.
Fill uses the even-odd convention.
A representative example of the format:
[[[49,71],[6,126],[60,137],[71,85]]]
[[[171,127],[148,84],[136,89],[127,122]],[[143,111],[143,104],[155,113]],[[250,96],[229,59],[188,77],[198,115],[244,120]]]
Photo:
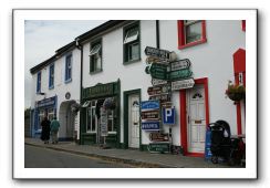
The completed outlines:
[[[195,80],[195,84],[202,84],[205,88],[205,105],[206,105],[206,126],[209,125],[209,100],[208,100],[208,79],[197,79]],[[180,136],[181,136],[181,147],[183,153],[186,156],[195,156],[195,157],[204,157],[204,153],[188,153],[188,140],[187,140],[187,97],[186,90],[181,90],[179,92],[179,101],[180,101]]]

